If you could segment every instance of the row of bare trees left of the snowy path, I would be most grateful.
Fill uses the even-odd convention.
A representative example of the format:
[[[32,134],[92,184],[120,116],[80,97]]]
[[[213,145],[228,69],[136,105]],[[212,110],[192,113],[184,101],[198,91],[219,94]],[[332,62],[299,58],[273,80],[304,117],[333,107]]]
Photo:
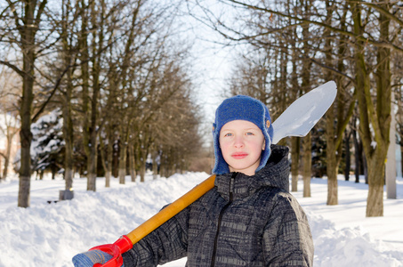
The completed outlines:
[[[49,166],[31,162],[31,126],[51,110],[62,122],[66,190],[77,167],[85,167],[87,190],[96,190],[100,162],[109,186],[116,158],[122,183],[127,166],[143,177],[148,154],[165,172],[189,165],[201,143],[199,117],[176,11],[174,2],[151,0],[0,4],[0,63],[15,77],[6,88],[17,98],[8,109],[20,115],[18,206],[29,206],[33,167]]]

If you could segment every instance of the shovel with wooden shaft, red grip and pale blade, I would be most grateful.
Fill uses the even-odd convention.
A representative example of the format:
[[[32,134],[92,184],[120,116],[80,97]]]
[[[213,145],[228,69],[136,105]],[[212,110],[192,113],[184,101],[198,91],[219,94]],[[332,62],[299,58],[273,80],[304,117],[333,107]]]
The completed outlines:
[[[274,135],[272,143],[278,143],[278,141],[287,136],[305,136],[308,134],[332,105],[336,94],[336,85],[334,81],[330,81],[318,86],[309,93],[305,93],[294,101],[273,123]],[[101,250],[113,256],[109,262],[104,264],[97,263],[93,266],[120,267],[123,264],[122,254],[131,249],[133,244],[147,236],[151,231],[156,230],[161,224],[195,202],[207,191],[213,189],[214,180],[215,175],[210,176],[181,198],[178,198],[149,218],[145,223],[117,239],[115,243],[91,248],[90,250]]]

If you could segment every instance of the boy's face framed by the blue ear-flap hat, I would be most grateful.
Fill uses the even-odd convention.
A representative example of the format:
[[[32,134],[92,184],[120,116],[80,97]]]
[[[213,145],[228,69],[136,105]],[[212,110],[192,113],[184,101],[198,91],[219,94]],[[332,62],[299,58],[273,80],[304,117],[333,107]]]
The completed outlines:
[[[231,172],[254,175],[261,161],[264,136],[257,125],[233,120],[222,126],[220,148]]]

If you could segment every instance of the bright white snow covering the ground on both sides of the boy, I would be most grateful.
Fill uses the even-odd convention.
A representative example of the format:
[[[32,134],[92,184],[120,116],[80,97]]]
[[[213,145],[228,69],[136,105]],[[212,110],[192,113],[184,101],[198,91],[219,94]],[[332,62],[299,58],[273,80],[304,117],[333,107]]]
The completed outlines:
[[[71,258],[120,235],[181,197],[208,177],[205,173],[104,187],[86,191],[86,179],[75,178],[75,198],[57,200],[64,181],[31,181],[31,206],[17,207],[18,181],[0,183],[0,266],[72,266]],[[341,177],[342,179],[343,177]],[[315,243],[314,266],[403,266],[403,180],[398,199],[384,199],[384,216],[366,218],[367,185],[339,180],[339,205],[326,206],[326,179],[311,180],[311,198],[302,198],[302,183],[294,196],[310,220]],[[185,259],[164,266],[184,266]]]

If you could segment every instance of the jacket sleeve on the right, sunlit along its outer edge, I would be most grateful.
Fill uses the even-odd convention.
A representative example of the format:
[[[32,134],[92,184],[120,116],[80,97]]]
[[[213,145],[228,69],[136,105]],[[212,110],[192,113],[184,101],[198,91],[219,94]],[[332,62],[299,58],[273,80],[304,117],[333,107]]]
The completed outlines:
[[[302,207],[288,193],[278,193],[275,198],[263,233],[265,265],[312,266],[313,240]]]

